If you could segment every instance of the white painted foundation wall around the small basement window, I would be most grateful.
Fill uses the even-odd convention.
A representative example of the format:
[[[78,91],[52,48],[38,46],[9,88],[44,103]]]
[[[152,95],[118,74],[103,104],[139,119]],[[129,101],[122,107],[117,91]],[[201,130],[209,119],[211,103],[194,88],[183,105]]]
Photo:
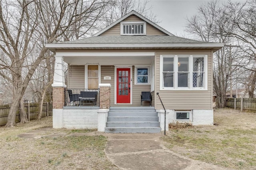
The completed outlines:
[[[176,114],[170,110],[169,123],[173,122],[176,122]],[[187,122],[192,122],[192,125],[213,125],[213,110],[193,110],[192,119]]]

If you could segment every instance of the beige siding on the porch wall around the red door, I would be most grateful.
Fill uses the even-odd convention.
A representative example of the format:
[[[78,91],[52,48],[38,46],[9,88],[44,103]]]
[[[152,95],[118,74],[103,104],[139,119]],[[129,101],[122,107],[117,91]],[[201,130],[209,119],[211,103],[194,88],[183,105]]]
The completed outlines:
[[[134,67],[132,67],[132,105],[114,105],[114,66],[101,66],[101,83],[110,83],[110,106],[140,106],[140,95],[142,91],[150,91],[150,85],[134,85]],[[104,76],[111,76],[111,80],[104,80]],[[146,103],[145,103],[146,104]],[[147,104],[146,104],[147,105]]]

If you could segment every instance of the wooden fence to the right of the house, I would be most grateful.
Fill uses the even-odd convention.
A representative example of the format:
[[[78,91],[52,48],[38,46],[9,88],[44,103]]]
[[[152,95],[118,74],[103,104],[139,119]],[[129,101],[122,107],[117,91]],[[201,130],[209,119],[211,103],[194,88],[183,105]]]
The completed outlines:
[[[256,113],[256,98],[228,98],[226,106],[235,110]]]

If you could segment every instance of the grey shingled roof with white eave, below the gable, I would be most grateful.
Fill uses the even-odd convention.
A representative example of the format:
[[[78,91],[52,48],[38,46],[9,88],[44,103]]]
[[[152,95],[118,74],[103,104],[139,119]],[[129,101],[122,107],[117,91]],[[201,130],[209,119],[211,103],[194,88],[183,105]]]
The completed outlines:
[[[56,49],[213,49],[224,43],[201,42],[178,36],[96,36],[70,42],[47,43]]]

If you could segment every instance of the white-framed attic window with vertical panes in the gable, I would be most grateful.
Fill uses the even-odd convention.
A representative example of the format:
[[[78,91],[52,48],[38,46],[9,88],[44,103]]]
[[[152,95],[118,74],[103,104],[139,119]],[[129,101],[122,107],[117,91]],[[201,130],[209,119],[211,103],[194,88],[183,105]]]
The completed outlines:
[[[146,22],[121,22],[121,35],[146,35]]]

